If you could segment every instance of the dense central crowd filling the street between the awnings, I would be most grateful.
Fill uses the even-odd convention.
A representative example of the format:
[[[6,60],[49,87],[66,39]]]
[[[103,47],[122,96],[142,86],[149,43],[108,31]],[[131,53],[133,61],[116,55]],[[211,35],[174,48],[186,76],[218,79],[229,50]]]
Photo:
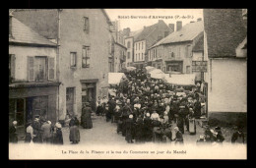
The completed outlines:
[[[109,95],[109,100],[106,96],[97,98],[96,114],[105,115],[106,122],[117,123],[117,133],[121,132],[127,142],[183,142],[184,125],[195,134],[196,125],[191,129],[189,120],[202,115],[198,89],[176,94],[184,89],[151,79],[143,70],[125,74],[119,85],[112,85],[115,95]],[[170,130],[173,123],[177,126],[175,139]]]

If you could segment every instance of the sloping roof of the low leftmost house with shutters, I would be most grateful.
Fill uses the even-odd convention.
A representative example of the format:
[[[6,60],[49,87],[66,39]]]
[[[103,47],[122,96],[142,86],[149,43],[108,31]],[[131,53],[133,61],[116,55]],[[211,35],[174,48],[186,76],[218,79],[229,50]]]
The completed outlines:
[[[9,37],[9,42],[56,46],[56,43],[51,42],[14,17],[12,18],[12,36]]]

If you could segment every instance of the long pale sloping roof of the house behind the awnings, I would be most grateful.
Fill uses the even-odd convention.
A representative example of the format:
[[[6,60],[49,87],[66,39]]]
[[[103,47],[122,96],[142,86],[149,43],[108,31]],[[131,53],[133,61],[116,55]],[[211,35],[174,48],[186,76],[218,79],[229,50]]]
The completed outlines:
[[[196,23],[190,23],[182,27],[178,31],[170,33],[165,38],[162,38],[152,47],[158,46],[160,44],[174,43],[174,42],[183,42],[190,41],[197,37],[200,33],[204,31],[204,24],[202,21]]]

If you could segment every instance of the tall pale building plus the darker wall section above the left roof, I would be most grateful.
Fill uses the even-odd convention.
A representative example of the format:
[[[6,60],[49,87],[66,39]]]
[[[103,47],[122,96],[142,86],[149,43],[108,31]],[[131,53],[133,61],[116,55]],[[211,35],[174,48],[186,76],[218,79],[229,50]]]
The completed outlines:
[[[58,44],[59,120],[108,95],[111,22],[102,9],[22,10],[18,18]],[[43,22],[42,22],[43,20]],[[98,68],[100,67],[100,68]]]

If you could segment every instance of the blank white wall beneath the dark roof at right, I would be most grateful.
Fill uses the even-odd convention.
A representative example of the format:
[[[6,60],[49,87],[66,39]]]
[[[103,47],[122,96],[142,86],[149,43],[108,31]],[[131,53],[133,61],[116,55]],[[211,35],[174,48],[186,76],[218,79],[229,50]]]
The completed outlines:
[[[210,72],[209,112],[247,112],[247,61],[213,59]]]

